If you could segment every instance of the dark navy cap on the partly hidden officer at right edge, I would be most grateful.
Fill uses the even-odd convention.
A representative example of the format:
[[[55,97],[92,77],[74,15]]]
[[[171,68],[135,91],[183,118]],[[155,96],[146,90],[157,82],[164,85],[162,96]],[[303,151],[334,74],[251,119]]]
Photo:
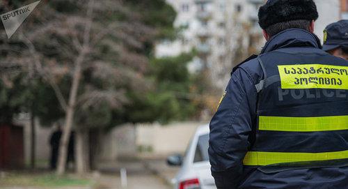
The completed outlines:
[[[329,51],[338,47],[348,47],[348,20],[330,24],[324,30],[323,50]]]

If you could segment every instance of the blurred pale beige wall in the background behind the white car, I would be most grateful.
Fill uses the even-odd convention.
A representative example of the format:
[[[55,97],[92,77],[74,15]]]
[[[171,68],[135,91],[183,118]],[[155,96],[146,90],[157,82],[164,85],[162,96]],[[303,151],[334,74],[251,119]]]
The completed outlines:
[[[113,161],[139,156],[167,156],[184,153],[198,126],[204,123],[184,122],[159,124],[125,124],[108,133],[100,133],[98,159]]]

